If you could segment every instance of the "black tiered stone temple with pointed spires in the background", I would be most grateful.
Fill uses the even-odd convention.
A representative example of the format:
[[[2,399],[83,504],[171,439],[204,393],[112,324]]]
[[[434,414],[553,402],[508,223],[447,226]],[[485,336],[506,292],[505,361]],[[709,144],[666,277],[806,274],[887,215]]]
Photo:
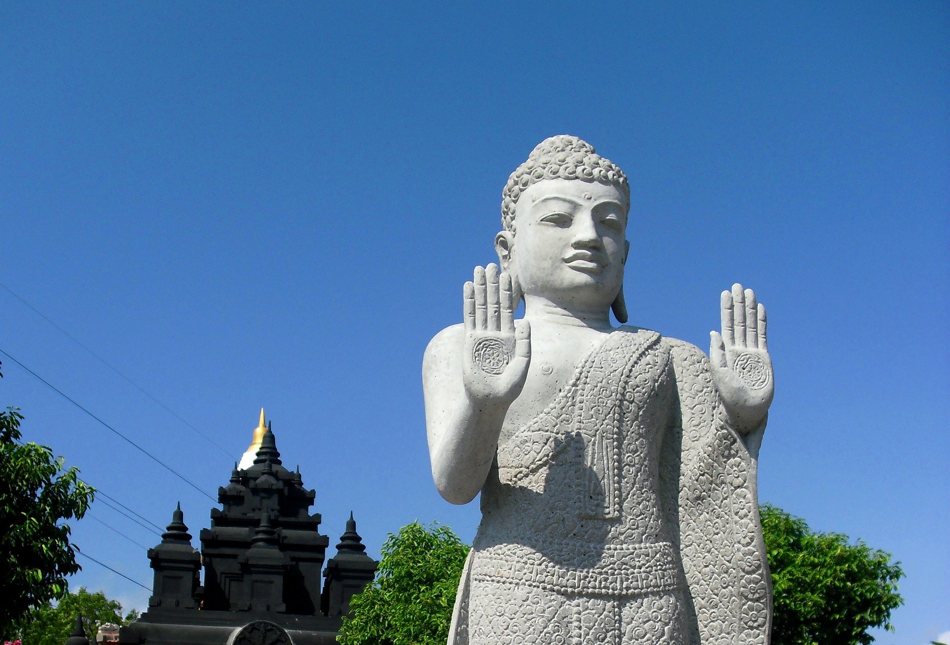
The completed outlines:
[[[235,465],[218,488],[222,507],[201,530],[200,552],[180,506],[172,513],[161,543],[148,550],[155,571],[148,611],[120,630],[121,645],[336,642],[350,598],[372,581],[378,562],[366,555],[351,513],[324,567],[330,540],[319,531],[320,514],[310,513],[315,491],[304,488],[299,469],[282,464],[263,410],[249,453],[249,467]]]

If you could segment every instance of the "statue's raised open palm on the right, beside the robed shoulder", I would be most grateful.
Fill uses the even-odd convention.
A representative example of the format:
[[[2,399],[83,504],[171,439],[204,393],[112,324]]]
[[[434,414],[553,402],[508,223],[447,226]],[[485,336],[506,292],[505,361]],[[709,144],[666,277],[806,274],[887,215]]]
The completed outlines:
[[[769,411],[775,380],[766,341],[766,308],[751,289],[733,284],[720,298],[722,333],[710,332],[712,378],[732,425],[757,427]]]

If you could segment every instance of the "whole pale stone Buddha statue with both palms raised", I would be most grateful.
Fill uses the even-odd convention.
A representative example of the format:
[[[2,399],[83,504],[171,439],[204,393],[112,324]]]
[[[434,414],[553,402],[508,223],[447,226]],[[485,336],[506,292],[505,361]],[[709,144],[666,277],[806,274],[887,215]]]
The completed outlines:
[[[624,325],[627,178],[576,137],[540,143],[503,198],[499,264],[423,362],[436,487],[482,494],[449,643],[768,643],[764,307],[724,291],[708,357]]]

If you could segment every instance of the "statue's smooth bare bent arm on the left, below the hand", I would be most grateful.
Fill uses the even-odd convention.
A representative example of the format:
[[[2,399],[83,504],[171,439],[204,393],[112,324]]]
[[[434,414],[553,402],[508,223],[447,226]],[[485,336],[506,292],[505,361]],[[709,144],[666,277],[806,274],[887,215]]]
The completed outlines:
[[[428,454],[432,479],[450,503],[471,502],[488,476],[507,403],[473,400],[463,382],[462,325],[439,332],[423,358]]]

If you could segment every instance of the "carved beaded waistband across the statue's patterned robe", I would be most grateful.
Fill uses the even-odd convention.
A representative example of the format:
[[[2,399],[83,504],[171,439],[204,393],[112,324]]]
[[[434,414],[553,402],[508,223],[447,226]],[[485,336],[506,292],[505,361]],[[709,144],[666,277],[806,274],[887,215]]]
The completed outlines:
[[[496,544],[476,551],[471,576],[479,582],[524,584],[565,596],[639,596],[684,586],[670,542],[603,545],[591,567],[570,566],[580,552],[557,546],[544,553],[523,544]],[[573,554],[573,557],[572,557]]]

